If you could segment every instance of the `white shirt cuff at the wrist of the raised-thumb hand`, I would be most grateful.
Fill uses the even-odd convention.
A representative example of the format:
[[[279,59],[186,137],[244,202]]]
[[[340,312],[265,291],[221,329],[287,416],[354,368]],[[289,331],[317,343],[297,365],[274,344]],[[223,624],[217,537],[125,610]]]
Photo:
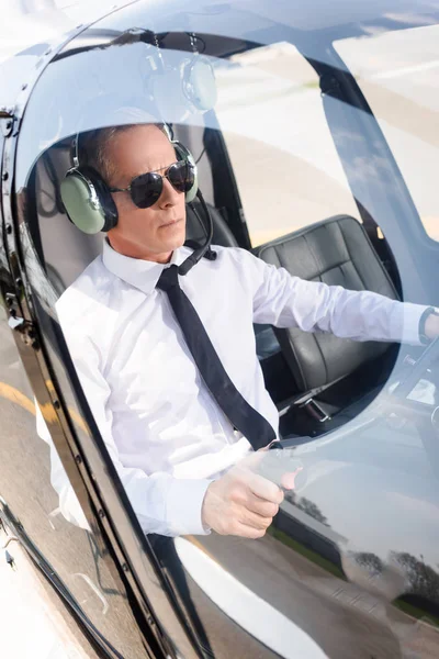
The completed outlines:
[[[209,479],[172,479],[167,495],[166,520],[172,535],[209,535],[201,511]]]

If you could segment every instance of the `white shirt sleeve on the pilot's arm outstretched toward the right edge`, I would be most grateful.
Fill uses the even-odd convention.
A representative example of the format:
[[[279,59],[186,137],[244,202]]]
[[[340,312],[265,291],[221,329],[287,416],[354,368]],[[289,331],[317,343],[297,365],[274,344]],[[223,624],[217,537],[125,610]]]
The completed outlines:
[[[354,340],[420,345],[419,320],[426,306],[306,281],[244,250],[239,253],[238,258],[246,260],[245,272],[251,277],[255,323],[304,332],[320,330]]]

